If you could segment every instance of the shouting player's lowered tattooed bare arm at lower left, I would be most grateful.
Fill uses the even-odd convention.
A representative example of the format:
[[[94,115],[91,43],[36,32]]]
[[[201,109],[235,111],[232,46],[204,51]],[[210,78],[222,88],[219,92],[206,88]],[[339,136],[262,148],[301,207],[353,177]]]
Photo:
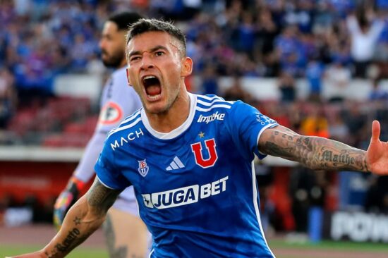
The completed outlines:
[[[96,178],[90,190],[68,211],[61,230],[49,244],[38,252],[17,257],[65,257],[102,225],[120,192],[107,188]]]

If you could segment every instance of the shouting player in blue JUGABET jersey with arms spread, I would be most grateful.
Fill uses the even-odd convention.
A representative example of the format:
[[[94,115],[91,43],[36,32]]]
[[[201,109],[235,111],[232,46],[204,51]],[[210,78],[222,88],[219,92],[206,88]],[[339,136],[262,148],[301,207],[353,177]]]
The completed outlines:
[[[368,151],[298,135],[241,101],[186,91],[193,61],[174,25],[142,19],[128,33],[128,80],[143,109],[111,130],[97,178],[42,250],[22,257],[63,257],[104,221],[133,185],[153,236],[150,257],[274,257],[260,223],[254,154],[315,169],[387,174],[388,145],[372,124]]]

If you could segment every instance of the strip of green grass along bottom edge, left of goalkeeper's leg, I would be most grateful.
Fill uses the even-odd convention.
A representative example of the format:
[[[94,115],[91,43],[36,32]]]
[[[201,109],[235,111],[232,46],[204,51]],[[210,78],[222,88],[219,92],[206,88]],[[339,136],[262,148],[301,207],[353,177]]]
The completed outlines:
[[[0,258],[24,254],[26,252],[35,252],[42,246],[22,246],[22,245],[0,245]],[[103,248],[78,247],[68,254],[69,258],[107,258],[108,253]]]

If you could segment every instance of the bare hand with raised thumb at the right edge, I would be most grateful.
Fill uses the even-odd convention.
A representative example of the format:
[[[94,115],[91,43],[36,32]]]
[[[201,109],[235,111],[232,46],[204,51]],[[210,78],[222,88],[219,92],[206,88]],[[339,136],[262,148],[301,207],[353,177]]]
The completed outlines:
[[[388,143],[380,141],[380,123],[373,121],[372,137],[366,152],[368,171],[377,175],[388,175]]]

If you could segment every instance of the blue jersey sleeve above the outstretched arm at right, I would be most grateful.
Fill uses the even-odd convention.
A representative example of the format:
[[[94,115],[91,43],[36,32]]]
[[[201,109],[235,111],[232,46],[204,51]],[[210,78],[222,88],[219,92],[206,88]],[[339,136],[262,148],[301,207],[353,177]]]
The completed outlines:
[[[253,106],[237,101],[231,107],[227,123],[234,145],[248,159],[253,159],[253,153],[259,159],[265,158],[265,154],[259,152],[257,144],[260,135],[267,128],[278,125],[277,121],[263,115]]]

